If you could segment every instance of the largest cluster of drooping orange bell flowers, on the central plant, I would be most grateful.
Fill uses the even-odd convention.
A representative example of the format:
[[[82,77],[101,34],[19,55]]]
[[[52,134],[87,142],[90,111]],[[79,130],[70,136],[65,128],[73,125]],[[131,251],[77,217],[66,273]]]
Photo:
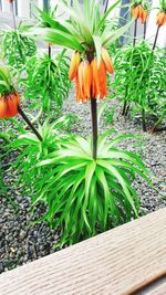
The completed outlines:
[[[93,98],[104,98],[106,92],[106,72],[113,74],[114,67],[106,49],[102,48],[100,61],[94,57],[90,63],[73,53],[69,78],[75,80],[76,102],[86,103]]]

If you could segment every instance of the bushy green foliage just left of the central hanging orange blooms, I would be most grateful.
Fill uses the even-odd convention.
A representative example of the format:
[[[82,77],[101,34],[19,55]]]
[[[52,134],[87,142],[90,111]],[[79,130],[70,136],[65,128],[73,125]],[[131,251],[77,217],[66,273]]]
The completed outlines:
[[[40,106],[48,114],[54,107],[62,107],[71,85],[68,77],[69,61],[65,50],[53,57],[43,54],[28,61],[27,77],[22,80],[22,85],[24,96],[32,99],[31,107]]]

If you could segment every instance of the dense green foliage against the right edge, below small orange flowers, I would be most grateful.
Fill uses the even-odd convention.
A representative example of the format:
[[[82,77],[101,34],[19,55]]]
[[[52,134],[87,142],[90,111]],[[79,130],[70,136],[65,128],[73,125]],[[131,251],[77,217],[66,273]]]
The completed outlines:
[[[126,104],[163,116],[166,108],[166,67],[160,50],[153,52],[142,42],[121,49],[115,57],[116,95]]]

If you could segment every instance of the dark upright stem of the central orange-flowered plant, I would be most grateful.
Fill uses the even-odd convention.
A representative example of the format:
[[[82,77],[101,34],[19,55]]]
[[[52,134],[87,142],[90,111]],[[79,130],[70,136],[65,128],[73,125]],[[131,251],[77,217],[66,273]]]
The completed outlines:
[[[94,52],[87,52],[87,60],[91,63],[94,59]],[[91,117],[92,117],[92,136],[93,136],[93,151],[92,157],[96,159],[97,157],[97,104],[96,98],[92,95],[91,88]]]

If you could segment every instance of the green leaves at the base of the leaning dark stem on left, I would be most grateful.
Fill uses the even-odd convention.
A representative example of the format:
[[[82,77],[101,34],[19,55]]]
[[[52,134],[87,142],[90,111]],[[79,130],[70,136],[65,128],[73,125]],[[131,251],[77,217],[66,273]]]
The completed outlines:
[[[29,193],[33,193],[35,190],[35,183],[39,179],[42,179],[42,170],[37,168],[39,160],[49,156],[60,146],[60,137],[68,137],[66,135],[60,135],[62,129],[66,129],[70,118],[62,116],[54,123],[50,124],[46,119],[43,125],[39,125],[39,133],[42,136],[42,141],[39,140],[32,133],[20,130],[22,134],[14,138],[9,145],[8,149],[19,149],[20,155],[13,162],[13,169],[18,171],[18,182],[21,181],[24,185],[24,190]]]

